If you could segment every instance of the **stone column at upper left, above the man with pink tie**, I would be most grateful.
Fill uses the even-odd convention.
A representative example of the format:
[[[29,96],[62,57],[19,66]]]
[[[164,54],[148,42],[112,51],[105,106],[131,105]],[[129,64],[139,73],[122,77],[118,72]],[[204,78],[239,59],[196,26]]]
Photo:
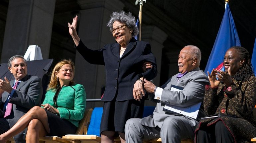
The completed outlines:
[[[10,0],[1,62],[13,55],[24,55],[29,45],[41,47],[49,57],[55,0]]]

